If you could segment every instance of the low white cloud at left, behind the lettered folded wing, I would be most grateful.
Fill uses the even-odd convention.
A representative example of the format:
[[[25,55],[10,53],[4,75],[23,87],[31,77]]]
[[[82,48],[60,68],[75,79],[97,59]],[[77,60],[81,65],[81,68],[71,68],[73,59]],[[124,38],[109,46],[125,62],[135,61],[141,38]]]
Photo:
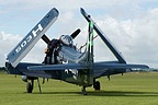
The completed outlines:
[[[21,35],[0,33],[0,66],[4,66],[7,55],[18,45],[23,37]],[[42,62],[46,44],[40,40],[22,61]]]

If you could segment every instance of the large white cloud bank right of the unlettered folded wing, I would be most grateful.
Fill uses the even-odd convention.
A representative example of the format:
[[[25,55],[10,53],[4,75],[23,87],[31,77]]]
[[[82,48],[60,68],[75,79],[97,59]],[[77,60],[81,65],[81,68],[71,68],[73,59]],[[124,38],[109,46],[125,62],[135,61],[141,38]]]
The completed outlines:
[[[127,62],[147,63],[157,67],[157,9],[153,9],[139,19],[116,20],[108,16],[98,21],[98,24],[121,50]],[[103,49],[104,46],[98,48]]]

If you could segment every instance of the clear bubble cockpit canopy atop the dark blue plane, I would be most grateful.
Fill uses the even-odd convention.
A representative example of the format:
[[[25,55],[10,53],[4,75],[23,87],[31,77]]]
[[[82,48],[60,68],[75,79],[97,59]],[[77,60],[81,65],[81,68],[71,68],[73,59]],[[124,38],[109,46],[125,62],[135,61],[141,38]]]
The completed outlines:
[[[70,35],[61,35],[59,39],[64,45],[67,45],[67,46],[74,45],[74,40]]]

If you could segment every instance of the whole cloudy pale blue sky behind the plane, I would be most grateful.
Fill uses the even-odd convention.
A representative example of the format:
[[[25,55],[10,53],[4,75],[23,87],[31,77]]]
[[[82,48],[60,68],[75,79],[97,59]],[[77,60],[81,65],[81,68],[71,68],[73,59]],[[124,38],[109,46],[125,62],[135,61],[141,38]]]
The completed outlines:
[[[52,8],[59,16],[46,32],[49,38],[81,28],[75,44],[83,45],[88,35],[88,23],[80,13],[83,8],[127,63],[158,68],[158,0],[0,0],[0,66]],[[42,62],[45,48],[41,39],[22,61]],[[95,61],[115,60],[100,37],[94,39],[94,50]]]

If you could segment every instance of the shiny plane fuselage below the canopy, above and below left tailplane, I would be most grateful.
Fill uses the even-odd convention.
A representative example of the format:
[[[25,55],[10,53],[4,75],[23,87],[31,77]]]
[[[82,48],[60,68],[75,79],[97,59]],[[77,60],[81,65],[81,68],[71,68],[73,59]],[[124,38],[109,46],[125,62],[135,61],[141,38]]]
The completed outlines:
[[[87,63],[87,51],[81,52],[76,46],[61,45],[58,48],[58,58],[63,63]],[[86,70],[66,69],[61,71],[61,80],[78,85],[88,86],[89,72]]]

